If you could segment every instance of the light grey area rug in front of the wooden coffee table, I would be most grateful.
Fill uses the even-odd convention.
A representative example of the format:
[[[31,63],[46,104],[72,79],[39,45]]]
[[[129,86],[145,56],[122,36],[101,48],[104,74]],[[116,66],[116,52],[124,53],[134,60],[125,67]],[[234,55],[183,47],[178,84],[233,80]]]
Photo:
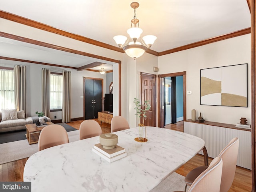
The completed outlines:
[[[68,132],[69,142],[79,140],[79,130]],[[20,140],[0,144],[0,164],[30,157],[38,151],[38,144],[28,144],[28,140]]]

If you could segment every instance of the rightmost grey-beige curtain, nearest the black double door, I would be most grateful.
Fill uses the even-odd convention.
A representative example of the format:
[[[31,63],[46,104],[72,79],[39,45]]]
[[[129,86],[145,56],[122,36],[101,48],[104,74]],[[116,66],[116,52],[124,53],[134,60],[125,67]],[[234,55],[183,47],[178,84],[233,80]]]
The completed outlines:
[[[62,122],[70,122],[70,71],[63,71]]]

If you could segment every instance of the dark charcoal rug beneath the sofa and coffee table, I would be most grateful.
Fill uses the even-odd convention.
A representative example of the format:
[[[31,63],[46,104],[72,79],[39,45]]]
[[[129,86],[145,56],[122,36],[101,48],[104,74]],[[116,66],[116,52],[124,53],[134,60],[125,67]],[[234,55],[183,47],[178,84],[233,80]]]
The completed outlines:
[[[56,123],[56,124],[63,126],[67,132],[77,130],[66,123]],[[19,141],[19,140],[25,140],[27,139],[25,134],[26,134],[26,130],[0,133],[0,144]]]

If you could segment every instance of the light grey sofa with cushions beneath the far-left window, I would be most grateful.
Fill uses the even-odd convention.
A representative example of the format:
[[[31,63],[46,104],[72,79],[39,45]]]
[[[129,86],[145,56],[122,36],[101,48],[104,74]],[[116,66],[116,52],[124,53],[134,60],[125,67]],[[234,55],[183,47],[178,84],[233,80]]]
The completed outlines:
[[[51,121],[50,118],[44,116],[47,121]],[[15,130],[26,130],[26,124],[33,124],[34,118],[27,117],[25,118],[25,113],[23,110],[7,110],[2,109],[0,112],[0,133],[9,132]]]

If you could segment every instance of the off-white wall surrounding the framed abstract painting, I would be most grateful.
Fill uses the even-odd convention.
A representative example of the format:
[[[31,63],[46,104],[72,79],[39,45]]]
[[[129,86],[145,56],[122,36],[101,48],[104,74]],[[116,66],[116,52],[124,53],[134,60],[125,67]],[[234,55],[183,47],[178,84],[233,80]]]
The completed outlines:
[[[200,69],[248,63],[248,107],[200,105]],[[186,71],[187,119],[191,110],[205,120],[236,124],[241,117],[251,123],[251,37],[250,34],[158,57],[158,74]]]

